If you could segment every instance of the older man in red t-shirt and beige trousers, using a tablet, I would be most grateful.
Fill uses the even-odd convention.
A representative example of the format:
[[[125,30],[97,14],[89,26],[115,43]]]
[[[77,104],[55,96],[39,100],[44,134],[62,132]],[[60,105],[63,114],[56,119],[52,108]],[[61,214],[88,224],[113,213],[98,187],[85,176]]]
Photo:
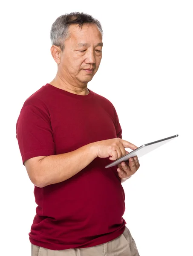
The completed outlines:
[[[137,256],[122,218],[121,185],[138,158],[105,169],[137,148],[122,140],[112,103],[87,88],[102,58],[102,28],[84,13],[62,15],[51,29],[55,79],[24,103],[17,140],[34,183],[32,256]]]

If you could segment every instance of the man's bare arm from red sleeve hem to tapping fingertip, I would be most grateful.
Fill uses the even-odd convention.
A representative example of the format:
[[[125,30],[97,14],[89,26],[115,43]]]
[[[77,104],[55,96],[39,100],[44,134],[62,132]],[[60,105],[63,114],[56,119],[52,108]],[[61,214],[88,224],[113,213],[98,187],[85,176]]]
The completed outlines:
[[[126,154],[125,148],[137,148],[132,143],[114,138],[89,143],[75,151],[33,157],[24,163],[32,183],[44,187],[67,180],[89,165],[96,157],[116,160]]]

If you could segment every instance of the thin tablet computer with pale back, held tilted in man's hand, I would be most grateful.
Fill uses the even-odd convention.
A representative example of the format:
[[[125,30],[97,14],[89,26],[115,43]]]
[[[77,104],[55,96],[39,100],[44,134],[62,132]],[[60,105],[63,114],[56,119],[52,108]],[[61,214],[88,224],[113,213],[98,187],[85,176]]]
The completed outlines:
[[[164,138],[162,140],[156,140],[151,143],[144,144],[141,147],[136,148],[135,150],[131,151],[130,153],[127,153],[124,156],[119,157],[117,160],[113,161],[112,163],[109,163],[107,166],[105,166],[105,168],[109,168],[109,167],[118,165],[119,163],[121,163],[123,161],[128,161],[128,159],[131,157],[135,157],[135,156],[142,157],[144,154],[149,153],[150,151],[160,147],[161,145],[169,142],[170,140],[173,140],[176,137],[178,137],[178,134],[168,137],[168,138]]]

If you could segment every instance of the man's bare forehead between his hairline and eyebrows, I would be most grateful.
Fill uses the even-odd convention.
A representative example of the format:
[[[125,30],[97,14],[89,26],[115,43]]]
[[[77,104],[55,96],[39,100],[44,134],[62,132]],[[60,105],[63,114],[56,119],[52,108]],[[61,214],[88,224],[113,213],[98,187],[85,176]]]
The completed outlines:
[[[72,24],[69,26],[69,32],[71,41],[77,46],[87,46],[88,42],[102,43],[102,35],[97,25],[89,23],[83,24],[82,28],[78,24]]]

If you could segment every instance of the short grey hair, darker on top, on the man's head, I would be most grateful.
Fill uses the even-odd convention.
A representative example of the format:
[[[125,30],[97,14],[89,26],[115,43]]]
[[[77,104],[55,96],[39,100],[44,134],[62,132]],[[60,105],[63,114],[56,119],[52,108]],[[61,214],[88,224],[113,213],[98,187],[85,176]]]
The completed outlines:
[[[101,23],[97,19],[83,12],[71,12],[69,14],[61,15],[52,24],[52,28],[50,31],[50,39],[52,45],[60,47],[60,49],[63,52],[64,42],[67,38],[69,38],[70,35],[68,29],[69,26],[71,24],[78,24],[79,28],[82,28],[83,24],[85,23],[96,24],[98,30],[101,32],[101,35],[103,36]]]

